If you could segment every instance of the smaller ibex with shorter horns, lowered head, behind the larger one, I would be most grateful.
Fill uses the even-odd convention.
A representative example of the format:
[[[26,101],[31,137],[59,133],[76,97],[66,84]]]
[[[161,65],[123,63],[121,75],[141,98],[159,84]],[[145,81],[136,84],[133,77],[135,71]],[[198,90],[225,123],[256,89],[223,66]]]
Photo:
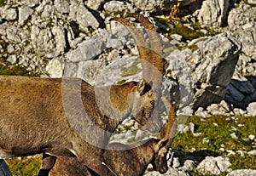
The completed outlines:
[[[108,167],[109,173],[114,176],[139,176],[143,175],[148,164],[153,165],[154,170],[166,173],[166,155],[172,144],[176,130],[176,116],[172,105],[164,99],[168,115],[167,129],[162,128],[159,139],[140,141],[132,145],[110,143],[102,154],[102,164]],[[109,150],[108,150],[109,149]],[[125,150],[128,149],[128,150]],[[81,165],[76,158],[58,157],[55,167],[50,171],[53,176],[90,176],[94,175],[87,167]]]

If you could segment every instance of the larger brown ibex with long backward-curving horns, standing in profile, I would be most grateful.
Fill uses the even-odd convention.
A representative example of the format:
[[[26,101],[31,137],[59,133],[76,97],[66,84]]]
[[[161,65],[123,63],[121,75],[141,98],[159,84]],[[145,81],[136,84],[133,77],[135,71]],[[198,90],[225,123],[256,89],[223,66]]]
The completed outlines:
[[[148,44],[128,20],[116,20],[130,26],[142,59],[143,79],[95,88],[79,78],[1,76],[0,156],[75,156],[90,170],[106,175],[100,156],[119,122],[133,116],[149,131],[160,130],[155,107],[162,81],[158,73],[165,71],[166,60],[155,52],[159,38],[148,32]],[[138,20],[155,33],[148,20]]]

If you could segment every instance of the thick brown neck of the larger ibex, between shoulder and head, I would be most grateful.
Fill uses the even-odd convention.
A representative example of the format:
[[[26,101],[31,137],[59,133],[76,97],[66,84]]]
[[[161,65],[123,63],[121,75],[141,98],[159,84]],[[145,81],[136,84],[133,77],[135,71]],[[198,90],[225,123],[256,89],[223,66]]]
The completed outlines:
[[[87,85],[84,85],[88,87]],[[92,87],[91,87],[92,88]],[[101,114],[101,117],[92,119],[92,121],[98,121],[96,124],[102,126],[101,128],[106,129],[108,132],[113,132],[114,129],[122,122],[125,118],[131,115],[132,102],[129,102],[128,97],[136,92],[137,82],[128,82],[124,85],[114,85],[106,87],[94,88],[93,97],[89,97],[86,93],[88,88],[84,88],[84,107],[91,107],[95,104],[94,110],[88,110],[91,118],[95,118],[96,114]],[[96,113],[99,111],[99,113]]]

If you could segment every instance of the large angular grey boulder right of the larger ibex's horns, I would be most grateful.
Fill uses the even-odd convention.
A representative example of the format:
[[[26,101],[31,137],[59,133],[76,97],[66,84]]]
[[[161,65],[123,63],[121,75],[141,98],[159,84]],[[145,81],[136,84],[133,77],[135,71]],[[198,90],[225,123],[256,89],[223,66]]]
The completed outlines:
[[[195,88],[194,110],[224,98],[241,52],[241,43],[226,33],[197,45],[199,48],[188,60]]]

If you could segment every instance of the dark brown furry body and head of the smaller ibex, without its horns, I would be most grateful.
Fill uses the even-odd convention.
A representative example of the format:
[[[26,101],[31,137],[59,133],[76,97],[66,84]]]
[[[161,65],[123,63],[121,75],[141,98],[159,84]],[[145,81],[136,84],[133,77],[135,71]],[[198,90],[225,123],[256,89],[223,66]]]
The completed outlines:
[[[144,142],[144,141],[143,141]],[[145,144],[136,144],[134,148],[130,150],[124,150],[128,145],[122,145],[119,143],[112,143],[108,145],[108,148],[112,150],[105,150],[102,155],[102,166],[108,168],[108,173],[118,176],[139,176],[143,175],[148,167],[149,163],[152,163],[155,170],[160,173],[166,173],[167,162],[165,146],[161,146],[160,139],[149,139]],[[156,149],[159,147],[159,149]],[[162,156],[160,155],[162,153]],[[156,168],[154,159],[157,156],[161,156],[161,166]],[[159,163],[156,163],[159,166]],[[90,173],[87,167],[83,167],[81,163],[72,157],[58,157],[55,166],[50,170],[50,176],[89,176],[94,175]]]

